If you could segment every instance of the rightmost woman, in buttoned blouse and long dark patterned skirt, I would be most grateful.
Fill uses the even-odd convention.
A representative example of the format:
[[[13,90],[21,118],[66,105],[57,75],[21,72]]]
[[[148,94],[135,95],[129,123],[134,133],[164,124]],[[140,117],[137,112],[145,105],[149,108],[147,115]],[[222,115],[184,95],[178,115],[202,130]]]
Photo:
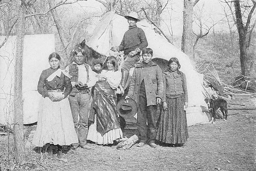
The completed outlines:
[[[163,110],[159,119],[157,140],[180,146],[189,137],[185,111],[188,106],[186,76],[179,71],[180,63],[177,58],[171,58],[168,67],[163,72]]]

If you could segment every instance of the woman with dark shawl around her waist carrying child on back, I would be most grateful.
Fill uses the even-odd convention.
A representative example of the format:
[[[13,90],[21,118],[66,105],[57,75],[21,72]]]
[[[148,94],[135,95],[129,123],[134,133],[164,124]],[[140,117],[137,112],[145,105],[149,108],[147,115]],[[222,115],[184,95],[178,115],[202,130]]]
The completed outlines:
[[[90,125],[87,140],[100,145],[113,144],[122,138],[122,130],[116,111],[116,88],[122,73],[118,71],[116,58],[109,56],[103,64],[102,73],[96,74],[99,81],[94,86]],[[95,113],[95,116],[91,116]],[[93,121],[94,120],[94,121]]]

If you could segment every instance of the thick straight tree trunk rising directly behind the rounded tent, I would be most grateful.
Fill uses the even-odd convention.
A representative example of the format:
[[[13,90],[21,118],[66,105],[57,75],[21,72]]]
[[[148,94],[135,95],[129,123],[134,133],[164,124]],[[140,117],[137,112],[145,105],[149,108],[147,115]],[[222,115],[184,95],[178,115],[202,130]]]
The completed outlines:
[[[183,33],[181,38],[181,50],[186,53],[189,58],[193,58],[193,32],[192,32],[192,22],[193,22],[193,1],[184,0],[183,9]]]

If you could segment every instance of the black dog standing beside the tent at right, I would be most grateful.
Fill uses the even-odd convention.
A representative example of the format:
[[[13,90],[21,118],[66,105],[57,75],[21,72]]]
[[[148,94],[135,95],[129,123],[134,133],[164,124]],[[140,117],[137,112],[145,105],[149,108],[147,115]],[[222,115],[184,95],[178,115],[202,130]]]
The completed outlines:
[[[212,122],[212,117],[213,117],[213,124],[215,124],[215,119],[216,119],[216,110],[220,108],[221,113],[223,114],[224,121],[227,120],[227,101],[224,99],[204,99],[206,102],[209,112],[210,112],[210,122]]]

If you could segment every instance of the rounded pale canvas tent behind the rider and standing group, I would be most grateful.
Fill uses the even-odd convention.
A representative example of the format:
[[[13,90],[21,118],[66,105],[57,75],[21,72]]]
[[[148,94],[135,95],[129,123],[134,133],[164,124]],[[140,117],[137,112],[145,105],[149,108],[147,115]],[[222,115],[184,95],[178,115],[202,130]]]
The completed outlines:
[[[137,26],[144,30],[148,40],[148,47],[153,49],[153,58],[169,60],[176,57],[180,61],[180,70],[186,74],[189,96],[189,107],[186,111],[188,125],[208,122],[208,117],[202,112],[201,107],[205,106],[204,87],[200,76],[194,69],[189,57],[169,43],[166,38],[155,32],[155,29],[146,20],[137,23]],[[110,55],[111,47],[118,46],[122,41],[125,31],[128,30],[128,23],[125,17],[115,12],[108,12],[93,31],[93,36],[87,45],[103,55]]]

